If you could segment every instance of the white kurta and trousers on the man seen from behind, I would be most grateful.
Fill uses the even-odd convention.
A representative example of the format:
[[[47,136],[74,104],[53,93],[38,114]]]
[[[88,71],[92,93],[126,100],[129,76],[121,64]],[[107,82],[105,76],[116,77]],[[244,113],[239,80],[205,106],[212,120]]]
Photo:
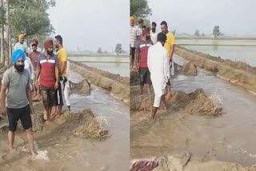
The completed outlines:
[[[170,78],[167,50],[160,42],[149,48],[147,66],[154,88],[154,107],[159,107],[161,96],[165,93],[166,83]]]

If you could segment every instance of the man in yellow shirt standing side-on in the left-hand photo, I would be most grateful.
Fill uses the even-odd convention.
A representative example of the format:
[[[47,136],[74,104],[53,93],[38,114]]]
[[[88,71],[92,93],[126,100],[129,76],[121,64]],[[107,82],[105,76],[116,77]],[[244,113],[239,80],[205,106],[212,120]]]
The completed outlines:
[[[64,105],[64,85],[67,82],[66,79],[66,62],[67,62],[67,51],[63,47],[62,36],[55,36],[54,45],[58,49],[57,57],[58,57],[58,72],[59,72],[59,87],[56,91],[56,105],[58,105],[58,112],[56,114],[57,118],[62,114],[62,106]],[[57,106],[56,106],[57,109]]]

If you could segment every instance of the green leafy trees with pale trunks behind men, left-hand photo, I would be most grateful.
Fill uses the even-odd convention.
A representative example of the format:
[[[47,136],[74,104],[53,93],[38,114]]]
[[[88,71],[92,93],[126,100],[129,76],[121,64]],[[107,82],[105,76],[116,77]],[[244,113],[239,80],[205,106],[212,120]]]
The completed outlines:
[[[0,63],[9,65],[13,45],[18,35],[25,34],[26,42],[34,37],[38,42],[54,33],[50,24],[50,7],[56,6],[55,0],[0,0]],[[42,45],[42,44],[41,44]]]

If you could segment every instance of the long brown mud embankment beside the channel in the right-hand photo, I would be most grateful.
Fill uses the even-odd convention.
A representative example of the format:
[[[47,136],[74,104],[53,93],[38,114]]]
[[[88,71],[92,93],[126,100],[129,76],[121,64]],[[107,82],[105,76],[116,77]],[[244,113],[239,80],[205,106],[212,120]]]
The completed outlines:
[[[175,54],[193,62],[195,66],[214,72],[219,78],[256,93],[256,67],[245,62],[233,62],[194,50],[186,50],[181,46],[175,47]]]

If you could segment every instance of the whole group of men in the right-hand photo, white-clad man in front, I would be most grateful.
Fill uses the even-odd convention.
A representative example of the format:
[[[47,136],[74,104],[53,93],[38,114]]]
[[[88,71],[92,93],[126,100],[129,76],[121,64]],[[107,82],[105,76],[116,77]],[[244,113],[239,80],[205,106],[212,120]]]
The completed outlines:
[[[156,30],[156,22],[152,22],[151,28],[143,26],[143,19],[138,20],[135,26],[135,18],[130,17],[130,54],[131,69],[138,68],[140,78],[140,94],[143,93],[144,84],[150,93],[150,85],[154,88],[154,106],[151,119],[162,103],[166,109],[166,100],[171,97],[170,75],[174,66],[173,54],[175,46],[174,34],[168,30],[166,21],[160,23],[161,32]]]

